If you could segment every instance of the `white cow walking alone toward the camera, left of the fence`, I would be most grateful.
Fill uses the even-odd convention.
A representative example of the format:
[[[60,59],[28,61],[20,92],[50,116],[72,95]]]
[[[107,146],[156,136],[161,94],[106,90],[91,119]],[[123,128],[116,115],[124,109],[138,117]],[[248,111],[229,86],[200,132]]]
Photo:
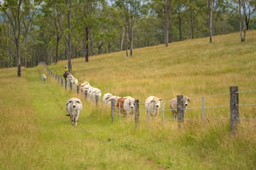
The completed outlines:
[[[79,98],[70,98],[66,102],[66,111],[69,113],[72,125],[77,126],[79,114],[83,109],[83,105]]]

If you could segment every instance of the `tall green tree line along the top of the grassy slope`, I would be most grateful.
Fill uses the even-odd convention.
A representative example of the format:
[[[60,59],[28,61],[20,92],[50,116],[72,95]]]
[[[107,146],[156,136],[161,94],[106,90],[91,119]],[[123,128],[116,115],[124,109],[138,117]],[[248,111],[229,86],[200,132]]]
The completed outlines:
[[[33,67],[256,28],[256,0],[0,1],[0,66]]]

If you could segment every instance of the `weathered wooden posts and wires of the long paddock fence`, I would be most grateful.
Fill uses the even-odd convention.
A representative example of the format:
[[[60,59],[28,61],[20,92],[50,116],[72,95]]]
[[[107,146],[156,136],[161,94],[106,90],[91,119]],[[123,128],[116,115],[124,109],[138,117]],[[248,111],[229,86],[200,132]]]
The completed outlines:
[[[42,65],[45,65],[45,63],[39,63],[39,64],[42,64]],[[69,85],[69,88],[70,90],[72,90],[73,86],[72,86],[72,83],[69,83],[67,84],[67,81],[63,78],[60,78],[60,76],[54,74],[51,72],[51,70],[47,67],[47,65],[45,65],[45,69],[47,70],[48,74],[54,78],[58,84],[61,84],[61,86],[64,86],[64,82],[65,82],[65,89],[68,88],[68,85]],[[234,89],[235,90],[234,90]],[[234,90],[234,92],[232,92],[232,89]],[[74,90],[76,90],[77,94],[80,94],[80,90],[79,90],[79,87],[77,86]],[[178,122],[178,127],[181,128],[182,126],[182,123],[186,120],[186,121],[189,121],[189,120],[196,120],[194,118],[190,118],[190,119],[184,119],[184,111],[185,110],[192,110],[192,109],[202,109],[202,117],[200,120],[204,121],[205,120],[205,109],[209,109],[209,108],[219,108],[219,107],[230,107],[230,129],[232,132],[234,132],[235,130],[235,127],[236,127],[236,123],[239,122],[239,120],[253,120],[253,121],[256,121],[256,119],[254,118],[248,118],[248,117],[243,117],[243,118],[240,118],[239,117],[239,112],[238,112],[238,107],[239,106],[255,106],[256,103],[249,103],[249,104],[238,104],[238,94],[239,93],[248,93],[248,92],[256,92],[256,90],[247,90],[247,91],[240,91],[238,92],[238,87],[230,87],[230,93],[221,93],[221,94],[212,94],[212,95],[206,95],[206,96],[201,96],[201,97],[192,97],[192,98],[201,98],[202,100],[202,106],[201,107],[192,107],[192,108],[184,108],[182,106],[182,95],[177,96],[177,101],[178,101],[178,119],[169,119],[169,118],[165,118],[165,112],[166,111],[173,111],[173,109],[161,109],[161,111],[159,111],[159,114],[161,114],[162,112],[162,119],[163,119],[163,122],[165,120],[177,120]],[[205,106],[205,98],[206,97],[215,97],[215,96],[225,96],[225,95],[228,95],[230,94],[230,105],[215,105],[215,106]],[[86,94],[83,94],[85,96],[85,99],[87,99],[87,95]],[[237,95],[237,96],[236,96]],[[232,100],[232,98],[234,99],[234,101]],[[95,101],[96,101],[96,106],[98,106],[98,102],[97,101],[100,101],[100,98],[95,98]],[[232,105],[232,102],[233,102],[233,105]],[[163,101],[163,107],[164,107],[164,103],[165,101]],[[167,101],[168,103],[168,101]],[[152,119],[151,117],[149,117],[148,115],[146,115],[146,117],[142,117],[140,116],[140,111],[144,111],[146,112],[146,109],[139,109],[139,106],[142,105],[144,103],[140,103],[139,100],[136,99],[136,110],[135,110],[135,113],[136,115],[134,115],[134,118],[135,118],[135,125],[137,125],[137,123],[139,122],[139,119]],[[103,105],[103,103],[102,103]],[[144,107],[143,107],[144,108]],[[115,109],[119,109],[117,107],[115,107],[114,105],[112,105],[111,103],[111,120],[114,121],[114,117],[115,117],[115,114],[114,114],[114,110]],[[235,110],[235,112],[233,113],[234,115],[232,115],[232,110]],[[120,109],[119,109],[119,121],[121,121],[121,117],[122,117],[123,113],[121,113]],[[209,119],[209,118],[207,118]],[[217,118],[217,119],[221,119],[221,118]],[[228,118],[222,118],[222,119],[228,119]],[[213,119],[211,119],[213,120]]]

